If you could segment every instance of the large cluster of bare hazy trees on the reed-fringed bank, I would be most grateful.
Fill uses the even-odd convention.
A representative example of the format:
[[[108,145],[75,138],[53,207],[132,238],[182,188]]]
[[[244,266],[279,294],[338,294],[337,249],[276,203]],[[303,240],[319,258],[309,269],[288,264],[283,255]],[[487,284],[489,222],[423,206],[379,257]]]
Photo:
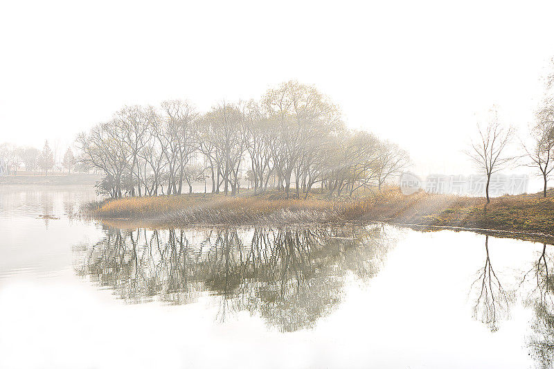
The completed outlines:
[[[175,195],[194,182],[235,195],[241,179],[307,196],[380,187],[409,162],[393,143],[346,129],[341,112],[313,86],[269,89],[259,101],[223,102],[200,114],[190,102],[124,107],[77,138],[79,161],[105,173],[99,192]],[[293,186],[291,186],[293,183]]]

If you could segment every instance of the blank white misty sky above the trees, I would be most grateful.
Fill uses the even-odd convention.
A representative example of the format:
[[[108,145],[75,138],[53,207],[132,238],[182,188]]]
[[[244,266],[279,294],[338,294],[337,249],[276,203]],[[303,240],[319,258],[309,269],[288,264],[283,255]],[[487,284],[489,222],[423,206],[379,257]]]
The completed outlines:
[[[298,79],[422,172],[471,172],[474,114],[524,129],[554,3],[1,1],[0,142],[60,145],[123,105],[201,110]]]

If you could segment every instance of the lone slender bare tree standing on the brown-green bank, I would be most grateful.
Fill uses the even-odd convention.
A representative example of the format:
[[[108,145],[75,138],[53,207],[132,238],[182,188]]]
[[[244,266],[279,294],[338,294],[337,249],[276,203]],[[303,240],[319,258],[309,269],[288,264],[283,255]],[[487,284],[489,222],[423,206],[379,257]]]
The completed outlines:
[[[485,187],[487,204],[490,203],[490,177],[505,168],[514,159],[513,156],[507,156],[505,152],[514,134],[514,129],[511,126],[506,128],[501,125],[496,107],[493,106],[489,109],[488,114],[488,123],[484,127],[479,123],[477,124],[479,137],[472,141],[470,150],[466,151],[466,154],[487,176]]]

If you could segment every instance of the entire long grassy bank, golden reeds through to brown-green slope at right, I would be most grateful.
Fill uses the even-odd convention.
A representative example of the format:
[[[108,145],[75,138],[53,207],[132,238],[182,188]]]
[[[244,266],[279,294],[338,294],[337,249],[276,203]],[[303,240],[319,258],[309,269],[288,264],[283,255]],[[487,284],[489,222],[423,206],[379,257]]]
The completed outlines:
[[[552,195],[552,194],[551,194]],[[325,223],[386,220],[431,226],[490,228],[554,233],[554,197],[539,195],[477,197],[404,196],[397,189],[355,198],[285,199],[266,195],[179,195],[124,198],[91,204],[88,212],[104,219],[134,219],[152,224]]]

